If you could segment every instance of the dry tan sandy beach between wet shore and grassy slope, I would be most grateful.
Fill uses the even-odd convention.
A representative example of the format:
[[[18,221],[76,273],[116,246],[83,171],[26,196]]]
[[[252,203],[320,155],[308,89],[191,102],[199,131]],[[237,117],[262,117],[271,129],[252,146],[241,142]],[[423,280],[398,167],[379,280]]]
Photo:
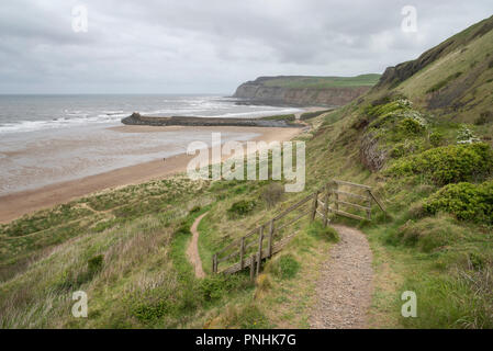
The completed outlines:
[[[259,136],[253,140],[285,141],[302,132],[302,128],[262,128],[262,127],[150,127],[150,126],[116,126],[111,127],[117,133],[156,133],[156,132],[221,132],[221,133],[255,133]],[[194,156],[180,154],[147,161],[130,167],[123,167],[94,176],[76,180],[57,182],[38,189],[13,192],[0,196],[0,223],[11,222],[24,214],[52,207],[71,200],[88,195],[104,189],[142,183],[152,179],[159,179],[186,171],[188,162]]]

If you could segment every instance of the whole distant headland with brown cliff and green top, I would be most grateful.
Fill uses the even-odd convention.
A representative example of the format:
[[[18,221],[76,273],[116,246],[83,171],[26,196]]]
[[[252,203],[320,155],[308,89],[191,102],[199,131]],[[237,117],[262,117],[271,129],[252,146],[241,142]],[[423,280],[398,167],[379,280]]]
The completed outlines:
[[[374,86],[380,75],[357,77],[259,77],[240,84],[234,98],[258,103],[345,105]]]

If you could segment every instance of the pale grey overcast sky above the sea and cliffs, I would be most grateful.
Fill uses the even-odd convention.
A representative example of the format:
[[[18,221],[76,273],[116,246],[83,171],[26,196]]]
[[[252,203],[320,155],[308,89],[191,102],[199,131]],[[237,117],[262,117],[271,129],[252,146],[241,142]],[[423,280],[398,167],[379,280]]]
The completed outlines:
[[[382,72],[492,14],[492,0],[2,0],[0,93],[233,93],[258,76]]]

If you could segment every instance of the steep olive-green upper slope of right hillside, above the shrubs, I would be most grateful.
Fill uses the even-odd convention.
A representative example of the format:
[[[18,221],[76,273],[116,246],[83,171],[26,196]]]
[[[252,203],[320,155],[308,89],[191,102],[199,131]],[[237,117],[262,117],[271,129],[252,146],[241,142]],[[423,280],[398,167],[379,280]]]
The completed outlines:
[[[493,121],[493,18],[413,61],[390,68],[374,92],[402,93],[446,121]]]

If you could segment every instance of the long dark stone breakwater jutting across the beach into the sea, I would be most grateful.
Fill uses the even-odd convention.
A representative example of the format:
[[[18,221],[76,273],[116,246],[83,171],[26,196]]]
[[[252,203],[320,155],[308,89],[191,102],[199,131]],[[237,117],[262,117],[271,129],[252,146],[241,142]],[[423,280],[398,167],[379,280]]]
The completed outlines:
[[[281,127],[293,128],[304,127],[299,123],[290,123],[287,121],[271,121],[260,118],[216,118],[216,117],[147,117],[134,112],[128,117],[122,118],[122,123],[126,125],[152,125],[152,126],[237,126],[237,127]]]

